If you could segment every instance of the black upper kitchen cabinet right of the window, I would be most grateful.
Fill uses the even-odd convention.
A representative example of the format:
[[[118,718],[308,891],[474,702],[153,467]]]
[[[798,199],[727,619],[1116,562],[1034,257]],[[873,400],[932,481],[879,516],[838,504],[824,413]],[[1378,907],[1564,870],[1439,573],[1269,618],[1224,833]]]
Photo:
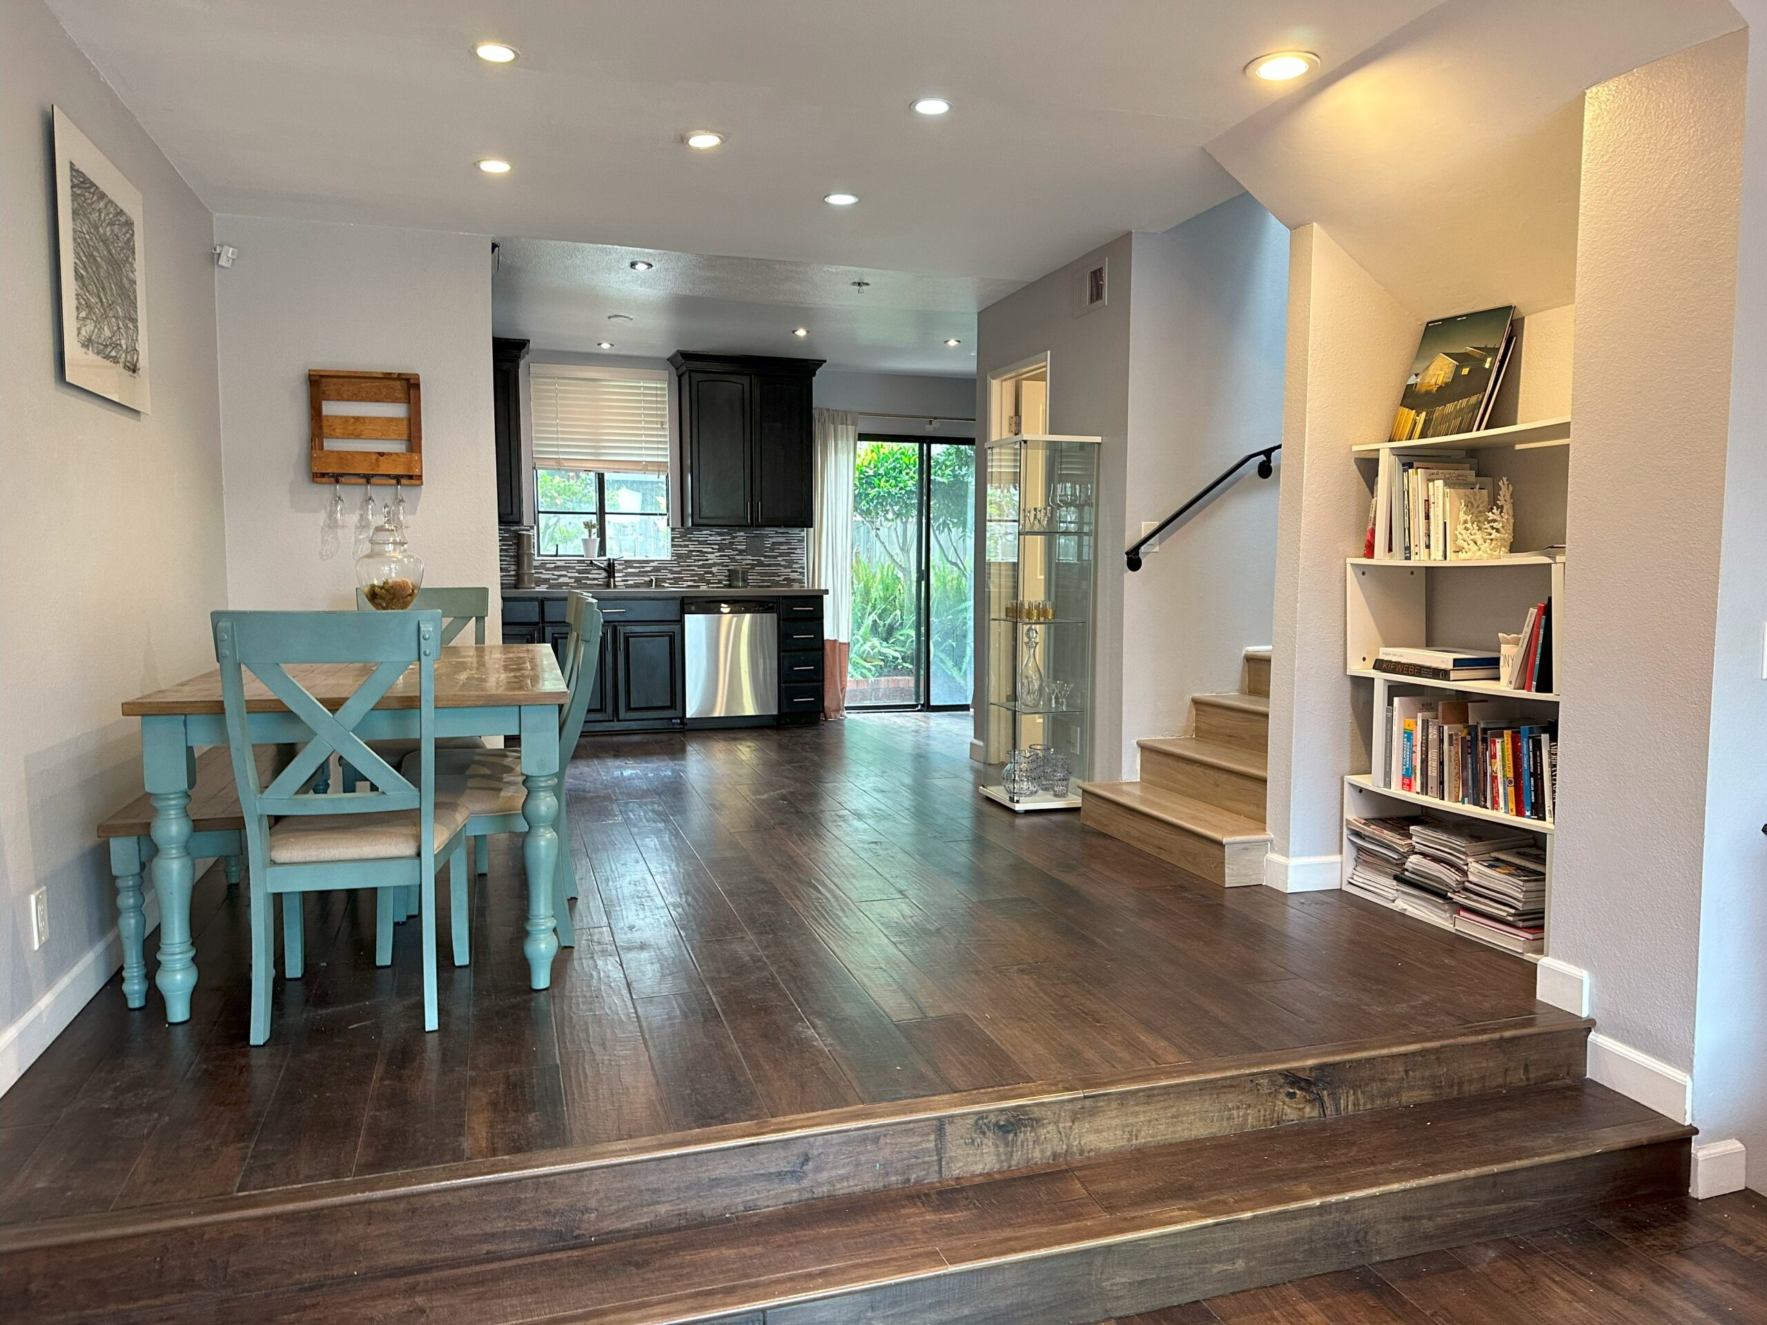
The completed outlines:
[[[682,523],[809,528],[820,359],[677,353]]]

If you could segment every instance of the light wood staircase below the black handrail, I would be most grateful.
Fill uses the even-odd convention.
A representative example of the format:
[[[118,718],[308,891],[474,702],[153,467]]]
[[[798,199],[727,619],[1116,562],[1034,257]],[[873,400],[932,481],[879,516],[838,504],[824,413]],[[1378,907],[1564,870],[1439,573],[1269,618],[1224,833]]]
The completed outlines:
[[[1191,735],[1145,737],[1141,781],[1083,783],[1080,822],[1202,878],[1263,883],[1270,650],[1248,648],[1235,694],[1193,694]]]

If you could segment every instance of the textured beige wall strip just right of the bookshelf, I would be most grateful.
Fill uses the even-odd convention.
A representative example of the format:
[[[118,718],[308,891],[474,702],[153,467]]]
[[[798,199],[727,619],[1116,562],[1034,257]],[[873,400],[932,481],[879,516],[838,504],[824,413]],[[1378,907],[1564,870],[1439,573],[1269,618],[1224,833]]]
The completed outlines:
[[[1726,721],[1712,657],[1746,49],[1719,37],[1603,83],[1583,129],[1548,933],[1590,973],[1601,1032],[1684,1072],[1707,731]]]

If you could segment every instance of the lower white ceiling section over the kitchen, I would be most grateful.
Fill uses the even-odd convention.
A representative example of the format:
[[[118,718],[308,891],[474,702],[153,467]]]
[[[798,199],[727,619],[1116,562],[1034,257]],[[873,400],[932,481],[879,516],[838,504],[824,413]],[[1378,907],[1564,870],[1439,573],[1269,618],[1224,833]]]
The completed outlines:
[[[634,258],[652,270],[634,272]],[[861,292],[853,281],[869,284]],[[1016,288],[965,276],[518,238],[500,247],[491,320],[498,336],[544,350],[595,353],[597,341],[611,341],[618,355],[800,355],[830,367],[972,376],[975,311]],[[795,327],[809,336],[793,336]],[[947,346],[952,336],[963,344]]]

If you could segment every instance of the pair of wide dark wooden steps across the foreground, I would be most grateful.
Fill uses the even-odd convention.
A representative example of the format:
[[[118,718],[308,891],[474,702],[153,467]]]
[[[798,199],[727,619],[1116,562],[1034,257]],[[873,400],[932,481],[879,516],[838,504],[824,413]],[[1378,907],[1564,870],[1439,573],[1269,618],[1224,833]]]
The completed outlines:
[[[1210,765],[1212,767],[1212,765]],[[0,1316],[1076,1325],[1687,1189],[1551,1009],[0,1230]]]

